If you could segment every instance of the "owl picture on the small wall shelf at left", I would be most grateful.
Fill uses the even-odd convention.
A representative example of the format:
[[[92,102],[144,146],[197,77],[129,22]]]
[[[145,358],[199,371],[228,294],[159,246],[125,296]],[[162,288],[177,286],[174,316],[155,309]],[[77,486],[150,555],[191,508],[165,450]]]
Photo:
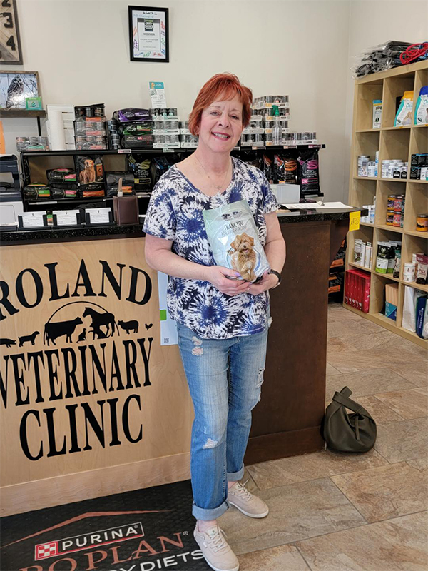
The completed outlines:
[[[37,71],[0,71],[0,109],[28,109],[26,98],[39,96]]]

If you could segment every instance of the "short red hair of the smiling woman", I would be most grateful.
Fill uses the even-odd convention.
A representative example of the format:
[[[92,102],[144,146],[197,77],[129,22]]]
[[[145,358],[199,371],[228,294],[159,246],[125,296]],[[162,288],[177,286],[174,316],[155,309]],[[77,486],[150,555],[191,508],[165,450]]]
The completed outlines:
[[[245,85],[241,84],[238,77],[233,74],[216,74],[208,79],[203,88],[199,91],[192,112],[189,115],[189,131],[196,135],[195,129],[199,126],[202,111],[210,106],[213,101],[228,101],[235,96],[240,98],[243,104],[243,127],[250,123],[251,103],[253,102],[253,92]]]

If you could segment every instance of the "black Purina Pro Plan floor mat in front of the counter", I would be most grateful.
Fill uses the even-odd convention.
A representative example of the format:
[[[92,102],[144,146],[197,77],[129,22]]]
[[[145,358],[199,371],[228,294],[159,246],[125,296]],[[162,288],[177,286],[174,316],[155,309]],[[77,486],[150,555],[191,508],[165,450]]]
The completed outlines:
[[[190,480],[0,518],[1,571],[207,571]]]

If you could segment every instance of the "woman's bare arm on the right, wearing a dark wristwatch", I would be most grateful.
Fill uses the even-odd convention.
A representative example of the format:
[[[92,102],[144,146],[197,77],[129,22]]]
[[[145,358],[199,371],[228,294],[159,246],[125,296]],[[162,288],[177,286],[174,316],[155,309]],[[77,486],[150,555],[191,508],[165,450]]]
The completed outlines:
[[[282,272],[282,268],[285,264],[286,258],[286,248],[285,248],[285,240],[282,238],[282,232],[280,228],[280,222],[278,221],[277,213],[270,212],[265,214],[265,221],[266,221],[266,243],[265,243],[265,254],[267,260],[269,261],[270,267],[272,270],[275,270],[279,273]],[[263,274],[263,280],[258,282],[257,284],[253,284],[250,286],[248,293],[252,293],[253,295],[258,295],[265,290],[270,288],[275,288],[275,285],[278,283],[278,278],[275,274],[265,272]]]

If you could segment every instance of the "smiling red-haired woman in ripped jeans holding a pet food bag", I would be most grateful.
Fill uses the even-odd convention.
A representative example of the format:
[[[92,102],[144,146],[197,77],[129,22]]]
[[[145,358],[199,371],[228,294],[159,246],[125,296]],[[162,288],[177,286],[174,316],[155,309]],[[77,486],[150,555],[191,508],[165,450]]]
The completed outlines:
[[[208,565],[236,571],[238,559],[217,518],[233,505],[249,517],[268,507],[239,483],[260,400],[267,328],[267,290],[280,283],[285,243],[267,179],[230,151],[250,121],[252,93],[233,74],[217,74],[200,90],[190,113],[196,151],[172,166],[153,189],[143,230],[146,261],[167,273],[168,310],[195,409],[191,443],[195,540]],[[220,198],[221,196],[221,198]],[[215,265],[203,211],[245,199],[272,268],[258,283]],[[234,279],[230,279],[234,278]]]

